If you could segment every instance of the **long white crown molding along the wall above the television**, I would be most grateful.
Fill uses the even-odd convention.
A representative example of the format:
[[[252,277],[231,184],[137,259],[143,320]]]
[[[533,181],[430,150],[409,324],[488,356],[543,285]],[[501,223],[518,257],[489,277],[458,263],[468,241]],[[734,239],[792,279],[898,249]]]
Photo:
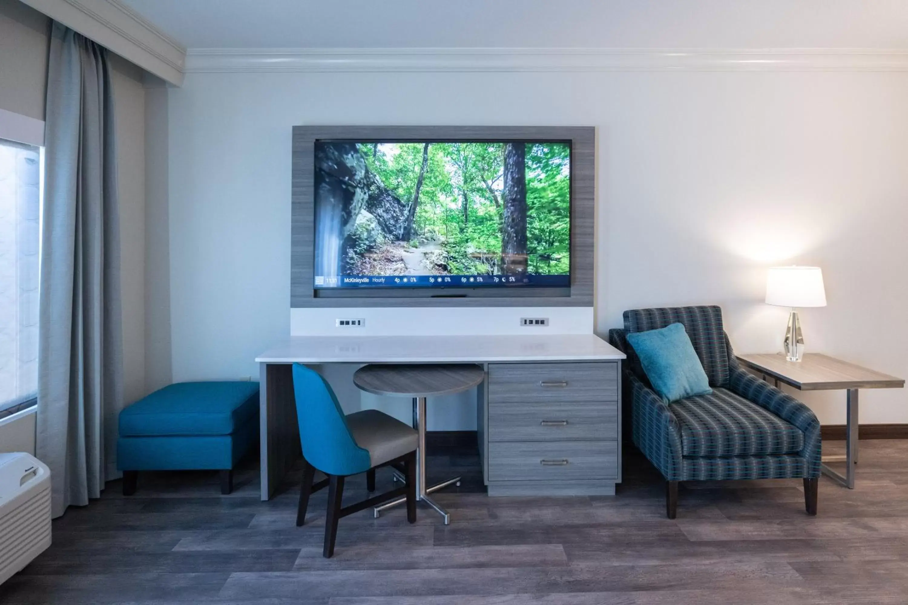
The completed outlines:
[[[908,51],[873,49],[194,48],[185,73],[906,72]]]

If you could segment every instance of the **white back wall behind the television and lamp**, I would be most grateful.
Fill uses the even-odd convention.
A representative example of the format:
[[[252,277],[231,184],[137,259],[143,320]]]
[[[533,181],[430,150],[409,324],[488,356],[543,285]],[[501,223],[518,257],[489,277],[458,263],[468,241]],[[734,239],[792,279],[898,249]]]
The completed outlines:
[[[170,270],[173,379],[255,376],[287,335],[307,123],[597,126],[600,334],[627,308],[716,303],[736,350],[775,351],[765,268],[816,264],[829,307],[804,310],[808,350],[908,376],[906,101],[905,73],[190,73],[148,226],[169,230],[147,262]],[[803,397],[844,423],[844,395]],[[862,421],[908,423],[904,403],[868,391]]]

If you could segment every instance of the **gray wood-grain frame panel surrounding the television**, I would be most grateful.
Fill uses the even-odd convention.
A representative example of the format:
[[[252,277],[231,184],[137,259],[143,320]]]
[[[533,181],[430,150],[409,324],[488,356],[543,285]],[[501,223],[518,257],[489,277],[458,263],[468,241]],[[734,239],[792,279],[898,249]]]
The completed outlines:
[[[315,142],[570,141],[571,279],[569,288],[316,290]],[[294,126],[291,182],[291,308],[592,307],[596,215],[596,129],[587,126]],[[455,295],[458,298],[449,298]],[[464,296],[465,295],[465,296]],[[460,298],[462,297],[462,298]]]

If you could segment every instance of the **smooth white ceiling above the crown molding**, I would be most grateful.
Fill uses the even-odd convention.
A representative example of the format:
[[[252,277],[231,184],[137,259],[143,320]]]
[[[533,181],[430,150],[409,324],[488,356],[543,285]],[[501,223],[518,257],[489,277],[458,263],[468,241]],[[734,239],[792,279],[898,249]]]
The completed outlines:
[[[187,48],[908,48],[908,0],[121,0]]]

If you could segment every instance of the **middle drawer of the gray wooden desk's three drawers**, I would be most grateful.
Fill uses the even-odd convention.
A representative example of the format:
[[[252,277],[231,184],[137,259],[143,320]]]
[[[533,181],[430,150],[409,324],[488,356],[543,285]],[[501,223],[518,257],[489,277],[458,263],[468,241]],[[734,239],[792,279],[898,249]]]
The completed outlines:
[[[489,404],[489,441],[617,439],[617,401]]]

